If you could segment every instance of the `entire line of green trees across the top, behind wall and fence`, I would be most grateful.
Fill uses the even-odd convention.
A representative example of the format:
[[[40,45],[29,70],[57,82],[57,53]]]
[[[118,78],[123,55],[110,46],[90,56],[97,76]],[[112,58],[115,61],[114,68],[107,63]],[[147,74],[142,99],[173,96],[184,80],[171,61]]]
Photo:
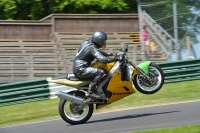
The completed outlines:
[[[50,14],[112,14],[112,13],[137,13],[138,0],[0,0],[0,20],[40,20]],[[161,19],[172,15],[174,0],[139,0],[152,18],[164,29],[173,28],[173,19]],[[159,4],[160,2],[165,4]],[[179,36],[181,37],[194,20],[195,12],[200,11],[199,0],[176,0]],[[144,8],[145,7],[145,8]],[[167,15],[167,16],[166,16]],[[200,17],[193,25],[190,36],[199,34]],[[171,24],[171,25],[169,25]],[[181,28],[183,27],[183,28]],[[173,34],[173,30],[168,31]]]

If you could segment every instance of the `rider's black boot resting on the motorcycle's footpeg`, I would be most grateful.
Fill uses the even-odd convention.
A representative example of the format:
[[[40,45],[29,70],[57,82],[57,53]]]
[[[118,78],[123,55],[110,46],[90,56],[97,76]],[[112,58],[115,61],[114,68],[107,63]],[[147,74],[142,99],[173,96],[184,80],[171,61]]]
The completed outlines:
[[[96,83],[91,82],[89,84],[88,94],[86,96],[96,99],[102,99],[100,95],[95,93],[96,89],[97,89]]]

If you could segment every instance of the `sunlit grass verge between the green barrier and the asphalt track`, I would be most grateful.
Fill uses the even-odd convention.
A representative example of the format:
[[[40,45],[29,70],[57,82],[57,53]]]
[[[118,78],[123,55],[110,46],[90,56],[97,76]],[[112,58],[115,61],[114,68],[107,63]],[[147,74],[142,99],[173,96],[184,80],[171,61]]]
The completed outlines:
[[[199,80],[164,84],[163,88],[156,94],[145,95],[136,92],[133,95],[95,111],[95,113],[119,108],[125,109],[145,105],[200,100],[199,95]],[[0,126],[60,118],[58,114],[58,103],[59,99],[53,99],[0,107]]]

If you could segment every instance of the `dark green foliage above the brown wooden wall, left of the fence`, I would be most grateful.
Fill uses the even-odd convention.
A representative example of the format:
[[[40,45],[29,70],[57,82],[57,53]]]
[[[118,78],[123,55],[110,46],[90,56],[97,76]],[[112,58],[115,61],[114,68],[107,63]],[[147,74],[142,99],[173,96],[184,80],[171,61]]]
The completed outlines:
[[[38,20],[53,13],[136,13],[134,0],[0,0],[0,20]]]

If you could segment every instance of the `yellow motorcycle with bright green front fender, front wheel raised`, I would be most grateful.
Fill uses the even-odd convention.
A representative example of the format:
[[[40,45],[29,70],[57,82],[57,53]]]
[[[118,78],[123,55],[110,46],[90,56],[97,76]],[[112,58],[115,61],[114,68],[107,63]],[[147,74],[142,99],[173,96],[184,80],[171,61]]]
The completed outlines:
[[[162,69],[151,61],[135,65],[127,56],[128,49],[128,45],[125,45],[123,50],[118,50],[117,56],[123,56],[123,61],[93,63],[92,67],[102,68],[108,72],[97,87],[96,93],[102,99],[86,97],[92,79],[78,79],[73,74],[47,78],[49,82],[73,88],[68,92],[56,93],[60,98],[59,114],[65,122],[72,125],[85,123],[91,118],[95,104],[96,109],[100,109],[135,93],[135,89],[143,94],[154,94],[161,89],[164,83]]]

